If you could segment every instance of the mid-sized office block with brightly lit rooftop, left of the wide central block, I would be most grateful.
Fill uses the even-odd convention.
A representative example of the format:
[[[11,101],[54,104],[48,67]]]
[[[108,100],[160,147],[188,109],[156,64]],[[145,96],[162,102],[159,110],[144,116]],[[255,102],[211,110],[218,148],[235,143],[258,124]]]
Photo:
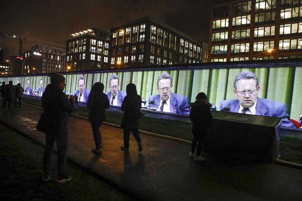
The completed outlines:
[[[108,35],[96,28],[70,34],[66,41],[66,71],[100,69],[102,51],[107,54],[109,51],[109,41],[103,47]]]

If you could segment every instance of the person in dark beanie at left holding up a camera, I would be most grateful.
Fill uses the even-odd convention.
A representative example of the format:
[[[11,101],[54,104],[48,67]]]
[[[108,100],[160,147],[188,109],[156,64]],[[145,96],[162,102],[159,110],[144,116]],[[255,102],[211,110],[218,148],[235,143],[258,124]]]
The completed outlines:
[[[50,84],[45,88],[42,95],[42,107],[52,119],[62,118],[63,128],[59,133],[45,133],[45,151],[43,154],[43,181],[50,180],[50,161],[54,143],[57,145],[57,182],[64,183],[71,179],[66,173],[66,155],[68,148],[68,113],[74,107],[74,97],[66,96],[63,93],[65,77],[58,73],[49,73]]]

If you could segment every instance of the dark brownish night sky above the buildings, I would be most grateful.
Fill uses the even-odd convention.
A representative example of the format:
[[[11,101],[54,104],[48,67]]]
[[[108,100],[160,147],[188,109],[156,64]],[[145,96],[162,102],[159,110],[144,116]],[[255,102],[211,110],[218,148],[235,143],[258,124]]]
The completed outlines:
[[[70,34],[93,27],[110,32],[113,27],[149,16],[189,36],[208,43],[210,8],[222,0],[60,0],[0,2],[0,33],[26,38],[23,52],[36,44],[65,49]],[[4,59],[19,54],[19,38],[0,35]]]

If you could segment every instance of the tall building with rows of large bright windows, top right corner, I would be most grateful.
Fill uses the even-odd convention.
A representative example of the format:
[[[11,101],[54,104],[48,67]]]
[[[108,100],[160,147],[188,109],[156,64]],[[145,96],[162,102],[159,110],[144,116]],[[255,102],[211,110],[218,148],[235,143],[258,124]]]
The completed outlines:
[[[302,0],[231,1],[210,16],[209,60],[302,58]]]

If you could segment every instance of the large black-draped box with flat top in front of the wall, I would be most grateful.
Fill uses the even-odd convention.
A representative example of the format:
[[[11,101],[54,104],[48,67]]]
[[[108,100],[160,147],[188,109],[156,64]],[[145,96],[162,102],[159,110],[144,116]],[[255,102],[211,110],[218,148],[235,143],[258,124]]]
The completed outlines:
[[[278,158],[281,118],[220,111],[212,116],[203,151],[256,163]]]

